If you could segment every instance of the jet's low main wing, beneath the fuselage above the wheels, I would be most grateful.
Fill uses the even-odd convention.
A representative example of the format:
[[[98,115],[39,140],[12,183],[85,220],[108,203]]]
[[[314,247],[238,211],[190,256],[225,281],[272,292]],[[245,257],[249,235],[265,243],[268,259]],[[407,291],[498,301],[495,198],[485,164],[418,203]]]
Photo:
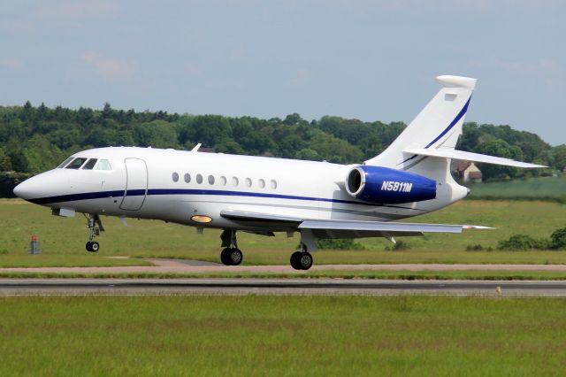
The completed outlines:
[[[424,233],[462,233],[463,229],[491,229],[473,225],[421,224],[386,221],[348,221],[299,219],[267,213],[225,210],[222,217],[252,223],[286,224],[298,230],[310,230],[317,238],[362,238],[424,235]]]

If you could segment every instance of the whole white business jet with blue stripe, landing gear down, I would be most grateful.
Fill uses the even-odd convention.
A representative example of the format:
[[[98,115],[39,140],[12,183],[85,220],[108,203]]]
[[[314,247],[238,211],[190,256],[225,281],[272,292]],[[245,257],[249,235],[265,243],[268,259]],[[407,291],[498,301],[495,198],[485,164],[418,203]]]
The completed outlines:
[[[439,76],[443,88],[379,156],[363,164],[233,156],[193,150],[98,148],[14,188],[14,194],[54,215],[88,218],[86,248],[98,251],[101,215],[161,219],[223,229],[220,258],[239,265],[238,231],[301,235],[291,265],[308,270],[317,238],[461,233],[468,225],[393,220],[439,210],[467,196],[450,174],[450,161],[543,167],[455,150],[476,80]]]

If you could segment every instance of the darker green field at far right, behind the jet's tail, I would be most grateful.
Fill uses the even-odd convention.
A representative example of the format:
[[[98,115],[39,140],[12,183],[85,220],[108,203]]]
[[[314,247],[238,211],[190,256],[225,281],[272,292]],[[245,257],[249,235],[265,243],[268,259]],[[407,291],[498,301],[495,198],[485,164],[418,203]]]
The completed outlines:
[[[566,199],[566,175],[537,177],[526,180],[487,182],[470,185],[470,198],[524,197]]]

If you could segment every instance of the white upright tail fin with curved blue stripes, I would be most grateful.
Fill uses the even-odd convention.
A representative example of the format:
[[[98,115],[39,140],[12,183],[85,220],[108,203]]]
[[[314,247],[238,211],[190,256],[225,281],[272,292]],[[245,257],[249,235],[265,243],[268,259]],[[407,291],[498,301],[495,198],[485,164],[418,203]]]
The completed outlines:
[[[463,119],[468,111],[476,79],[459,76],[438,76],[441,88],[401,135],[379,156],[365,161],[394,169],[413,170],[418,155],[404,150],[454,150],[462,135]],[[428,169],[427,169],[428,170]]]

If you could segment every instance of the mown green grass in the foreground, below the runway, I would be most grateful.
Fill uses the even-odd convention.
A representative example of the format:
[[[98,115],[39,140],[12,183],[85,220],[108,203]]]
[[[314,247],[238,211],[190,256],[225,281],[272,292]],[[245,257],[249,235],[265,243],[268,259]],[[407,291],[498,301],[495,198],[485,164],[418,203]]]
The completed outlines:
[[[559,375],[566,300],[0,298],[0,375]]]

